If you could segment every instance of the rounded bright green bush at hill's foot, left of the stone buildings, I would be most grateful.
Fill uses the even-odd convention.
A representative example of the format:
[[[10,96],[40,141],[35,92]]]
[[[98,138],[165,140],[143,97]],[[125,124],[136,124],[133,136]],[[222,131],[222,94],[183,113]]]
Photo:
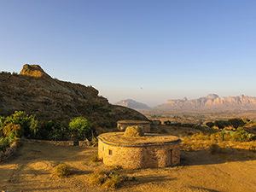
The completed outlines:
[[[90,122],[84,117],[77,117],[71,119],[69,127],[71,131],[78,133],[79,138],[84,139],[86,133],[90,131]]]

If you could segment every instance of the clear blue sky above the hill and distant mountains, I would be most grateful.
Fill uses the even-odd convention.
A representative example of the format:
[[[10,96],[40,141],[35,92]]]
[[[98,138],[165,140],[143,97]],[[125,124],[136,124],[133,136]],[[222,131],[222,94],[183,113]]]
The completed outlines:
[[[0,0],[0,71],[40,65],[109,102],[256,96],[254,0]]]

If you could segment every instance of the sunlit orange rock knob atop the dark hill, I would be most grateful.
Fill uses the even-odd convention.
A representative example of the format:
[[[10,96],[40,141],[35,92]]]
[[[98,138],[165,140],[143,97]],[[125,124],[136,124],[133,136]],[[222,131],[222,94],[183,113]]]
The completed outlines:
[[[25,64],[20,71],[20,75],[26,75],[31,77],[49,77],[47,73],[44,72],[44,70],[39,65],[29,65]]]

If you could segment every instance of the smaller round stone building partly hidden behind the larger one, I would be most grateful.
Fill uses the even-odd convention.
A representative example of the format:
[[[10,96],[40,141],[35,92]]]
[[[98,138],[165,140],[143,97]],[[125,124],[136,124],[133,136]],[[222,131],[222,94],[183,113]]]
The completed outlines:
[[[144,132],[150,132],[150,122],[144,120],[119,120],[117,122],[117,128],[119,131],[125,131],[127,126],[138,126],[143,129]]]

